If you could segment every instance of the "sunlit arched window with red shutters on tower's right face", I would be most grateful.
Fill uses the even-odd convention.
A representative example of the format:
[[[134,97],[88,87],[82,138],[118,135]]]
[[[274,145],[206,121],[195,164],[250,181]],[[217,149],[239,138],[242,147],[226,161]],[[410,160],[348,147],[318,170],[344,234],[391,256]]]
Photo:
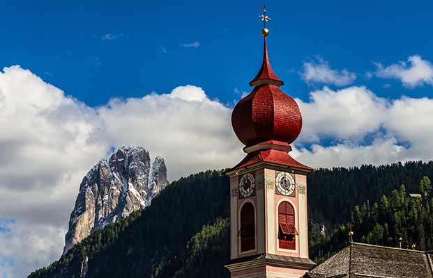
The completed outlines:
[[[281,202],[278,206],[278,243],[280,248],[296,249],[295,210],[289,202]]]

